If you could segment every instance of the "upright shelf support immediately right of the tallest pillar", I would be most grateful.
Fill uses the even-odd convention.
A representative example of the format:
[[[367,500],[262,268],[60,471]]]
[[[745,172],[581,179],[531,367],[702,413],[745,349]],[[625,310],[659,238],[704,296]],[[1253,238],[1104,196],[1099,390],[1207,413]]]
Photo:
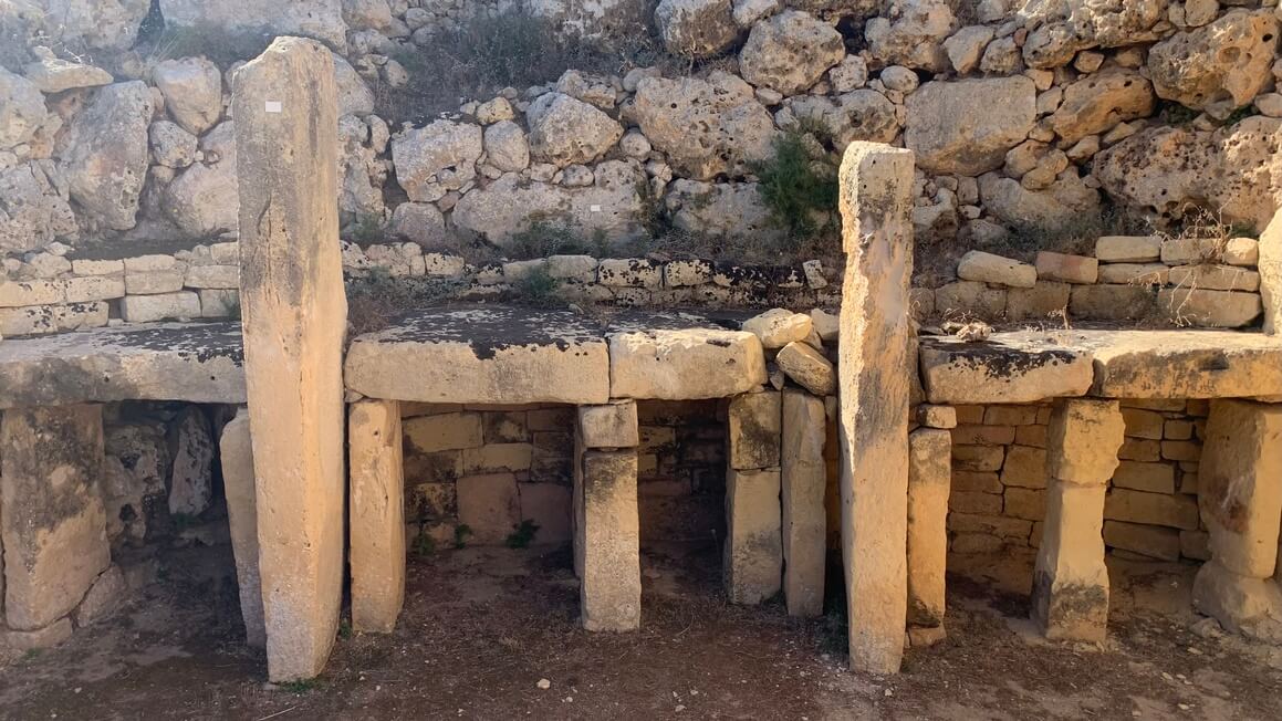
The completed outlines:
[[[387,634],[405,602],[405,475],[400,403],[358,401],[347,414],[351,628]]]

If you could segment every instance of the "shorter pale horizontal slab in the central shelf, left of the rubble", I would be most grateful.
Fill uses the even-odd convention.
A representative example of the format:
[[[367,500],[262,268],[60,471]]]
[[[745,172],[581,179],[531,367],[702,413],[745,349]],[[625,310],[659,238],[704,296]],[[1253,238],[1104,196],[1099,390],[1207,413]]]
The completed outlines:
[[[610,397],[722,398],[765,383],[762,341],[742,330],[690,328],[610,336]]]

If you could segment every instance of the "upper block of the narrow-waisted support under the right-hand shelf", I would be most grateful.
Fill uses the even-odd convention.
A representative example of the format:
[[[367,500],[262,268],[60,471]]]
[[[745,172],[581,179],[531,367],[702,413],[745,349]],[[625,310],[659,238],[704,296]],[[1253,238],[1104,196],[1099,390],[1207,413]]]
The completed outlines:
[[[1046,473],[1065,483],[1103,487],[1118,466],[1124,435],[1117,401],[1056,401],[1047,428]]]

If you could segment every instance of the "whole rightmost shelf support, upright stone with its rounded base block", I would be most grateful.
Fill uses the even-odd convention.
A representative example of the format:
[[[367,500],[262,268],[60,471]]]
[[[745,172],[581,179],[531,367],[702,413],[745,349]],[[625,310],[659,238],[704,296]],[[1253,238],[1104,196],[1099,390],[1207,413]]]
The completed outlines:
[[[1282,592],[1270,578],[1282,523],[1282,405],[1211,401],[1197,505],[1210,561],[1194,580],[1194,604],[1231,631],[1282,639]]]

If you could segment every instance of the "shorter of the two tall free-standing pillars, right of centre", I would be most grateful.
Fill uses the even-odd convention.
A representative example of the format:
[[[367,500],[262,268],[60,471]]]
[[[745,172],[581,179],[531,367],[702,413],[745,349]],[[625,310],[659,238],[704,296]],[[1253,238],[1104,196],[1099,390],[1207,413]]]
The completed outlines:
[[[908,613],[913,152],[853,142],[841,161],[841,551],[850,667],[899,671]]]

